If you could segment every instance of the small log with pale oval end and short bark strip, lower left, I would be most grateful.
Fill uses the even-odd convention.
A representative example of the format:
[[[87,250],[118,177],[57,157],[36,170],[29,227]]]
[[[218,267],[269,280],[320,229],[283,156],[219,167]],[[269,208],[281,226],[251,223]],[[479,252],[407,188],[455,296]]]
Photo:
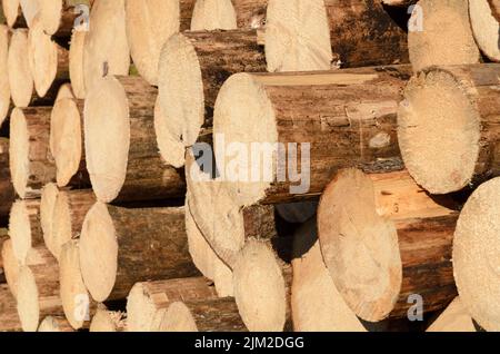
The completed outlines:
[[[16,257],[26,264],[31,248],[43,245],[40,200],[17,200],[10,210],[9,235]]]

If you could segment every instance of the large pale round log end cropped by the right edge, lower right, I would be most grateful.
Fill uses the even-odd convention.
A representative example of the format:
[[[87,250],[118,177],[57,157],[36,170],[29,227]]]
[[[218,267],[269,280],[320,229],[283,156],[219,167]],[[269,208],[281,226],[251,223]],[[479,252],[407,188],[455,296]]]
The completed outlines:
[[[453,273],[460,301],[487,331],[500,330],[498,262],[500,178],[481,185],[460,214],[453,240]]]

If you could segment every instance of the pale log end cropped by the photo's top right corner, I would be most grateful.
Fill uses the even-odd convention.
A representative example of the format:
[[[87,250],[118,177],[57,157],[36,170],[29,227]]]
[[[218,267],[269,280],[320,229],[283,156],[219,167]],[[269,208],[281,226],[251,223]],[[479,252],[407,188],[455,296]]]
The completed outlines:
[[[500,61],[500,21],[493,17],[488,0],[469,1],[470,24],[476,42],[492,61]]]

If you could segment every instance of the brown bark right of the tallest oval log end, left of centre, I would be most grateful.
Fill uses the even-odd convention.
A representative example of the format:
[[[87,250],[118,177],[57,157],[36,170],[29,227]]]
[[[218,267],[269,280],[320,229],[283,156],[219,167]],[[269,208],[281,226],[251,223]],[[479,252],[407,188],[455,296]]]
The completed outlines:
[[[117,77],[117,79],[126,90],[130,112],[127,176],[117,200],[152,200],[183,196],[186,193],[183,171],[166,166],[158,153],[154,132],[154,102],[158,89],[140,77]]]

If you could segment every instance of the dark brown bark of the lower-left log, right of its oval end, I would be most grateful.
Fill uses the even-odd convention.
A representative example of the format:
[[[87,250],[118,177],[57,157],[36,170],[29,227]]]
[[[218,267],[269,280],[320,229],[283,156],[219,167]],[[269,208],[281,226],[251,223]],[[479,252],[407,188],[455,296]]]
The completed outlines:
[[[108,206],[118,242],[118,271],[109,299],[124,298],[144,279],[199,275],[188,249],[183,208]]]

